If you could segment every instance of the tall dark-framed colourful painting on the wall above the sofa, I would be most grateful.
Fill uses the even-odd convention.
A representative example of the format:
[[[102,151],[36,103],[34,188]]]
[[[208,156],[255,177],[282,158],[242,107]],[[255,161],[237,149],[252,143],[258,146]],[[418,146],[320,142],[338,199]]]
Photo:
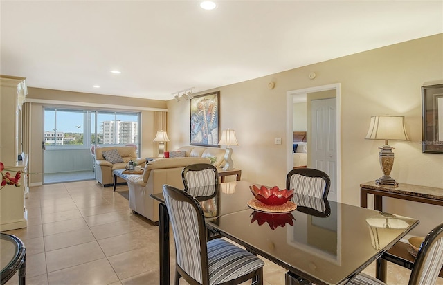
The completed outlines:
[[[190,145],[219,147],[220,91],[191,99]]]

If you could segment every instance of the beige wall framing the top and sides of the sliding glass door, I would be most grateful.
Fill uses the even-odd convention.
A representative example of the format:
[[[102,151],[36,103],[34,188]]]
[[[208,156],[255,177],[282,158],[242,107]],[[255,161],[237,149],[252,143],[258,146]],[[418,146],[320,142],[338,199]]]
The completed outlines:
[[[28,87],[26,100],[31,102],[30,185],[42,184],[43,172],[43,109],[46,106],[70,106],[79,108],[114,109],[141,112],[140,157],[154,156],[154,113],[167,111],[166,102],[91,93],[78,93]]]

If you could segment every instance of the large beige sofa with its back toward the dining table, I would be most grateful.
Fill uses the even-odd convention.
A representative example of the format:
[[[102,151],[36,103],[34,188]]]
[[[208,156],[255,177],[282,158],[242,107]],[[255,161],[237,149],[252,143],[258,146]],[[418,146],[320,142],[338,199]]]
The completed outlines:
[[[158,223],[159,203],[150,194],[161,193],[163,184],[183,189],[183,167],[195,163],[210,163],[210,160],[202,157],[160,158],[147,163],[143,174],[128,175],[129,208]]]

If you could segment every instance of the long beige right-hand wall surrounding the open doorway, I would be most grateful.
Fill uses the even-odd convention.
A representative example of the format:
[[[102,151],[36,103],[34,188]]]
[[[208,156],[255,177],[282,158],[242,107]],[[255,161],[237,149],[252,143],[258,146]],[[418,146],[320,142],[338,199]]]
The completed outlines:
[[[356,55],[320,62],[255,80],[222,86],[220,130],[235,129],[233,147],[242,179],[284,186],[287,158],[287,91],[341,84],[341,201],[359,205],[360,183],[381,176],[377,147],[365,140],[374,115],[406,117],[410,141],[392,141],[395,165],[391,176],[401,183],[443,188],[443,154],[423,154],[421,86],[443,83],[443,35],[416,39]],[[309,80],[314,71],[316,78]],[[274,89],[268,89],[269,82]],[[201,92],[207,93],[208,91]],[[190,102],[168,101],[168,150],[189,145]],[[283,138],[275,145],[275,138]],[[390,200],[386,211],[420,219],[415,235],[443,221],[443,207]]]

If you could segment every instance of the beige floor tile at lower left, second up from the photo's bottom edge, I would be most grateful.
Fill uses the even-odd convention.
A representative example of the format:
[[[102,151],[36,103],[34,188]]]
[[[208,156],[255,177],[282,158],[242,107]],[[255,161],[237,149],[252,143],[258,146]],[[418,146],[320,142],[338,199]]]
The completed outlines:
[[[48,273],[104,258],[97,241],[46,252]]]

